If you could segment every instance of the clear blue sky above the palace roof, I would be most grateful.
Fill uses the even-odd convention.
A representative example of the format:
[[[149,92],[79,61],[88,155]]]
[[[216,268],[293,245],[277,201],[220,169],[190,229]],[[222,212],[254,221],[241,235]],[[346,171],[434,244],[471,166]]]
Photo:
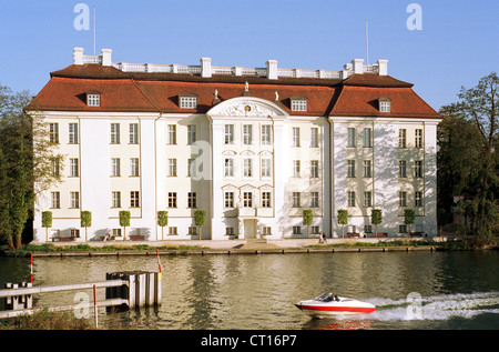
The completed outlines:
[[[90,30],[77,30],[78,3]],[[409,30],[410,3],[421,29]],[[434,109],[457,101],[498,72],[497,0],[53,0],[1,1],[0,84],[38,93],[50,72],[72,63],[74,47],[113,50],[113,62],[340,70],[354,58],[388,59],[388,73],[415,84]]]

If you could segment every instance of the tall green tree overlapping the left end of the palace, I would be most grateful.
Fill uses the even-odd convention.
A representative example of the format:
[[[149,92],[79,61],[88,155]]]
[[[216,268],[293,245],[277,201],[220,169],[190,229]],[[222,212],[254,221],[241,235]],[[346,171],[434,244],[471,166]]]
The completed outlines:
[[[60,180],[52,160],[62,155],[54,154],[43,115],[24,110],[30,100],[29,92],[0,86],[0,235],[9,249],[21,245],[35,195]]]

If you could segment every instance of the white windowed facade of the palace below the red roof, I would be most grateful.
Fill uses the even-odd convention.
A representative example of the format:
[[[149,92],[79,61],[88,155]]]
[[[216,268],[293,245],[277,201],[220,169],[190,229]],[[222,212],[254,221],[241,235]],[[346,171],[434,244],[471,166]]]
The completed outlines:
[[[267,66],[277,77],[276,62]],[[202,70],[211,77],[211,61],[202,60]],[[203,240],[306,238],[303,209],[313,210],[313,235],[342,237],[336,215],[346,209],[345,232],[373,237],[375,208],[383,211],[378,232],[406,237],[404,209],[410,208],[411,232],[437,233],[436,119],[289,114],[249,94],[206,113],[43,113],[57,127],[64,168],[62,182],[37,200],[39,242],[106,234],[200,239],[198,209],[206,212]],[[131,212],[126,229],[121,210]],[[157,225],[163,210],[164,229]],[[52,212],[50,229],[42,228],[43,211]],[[88,229],[80,225],[81,211],[92,213]]]

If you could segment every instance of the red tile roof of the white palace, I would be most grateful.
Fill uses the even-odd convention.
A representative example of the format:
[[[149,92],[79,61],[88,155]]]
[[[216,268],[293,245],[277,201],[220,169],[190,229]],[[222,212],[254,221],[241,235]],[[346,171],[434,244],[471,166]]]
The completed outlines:
[[[244,83],[252,97],[275,100],[289,114],[439,118],[438,113],[411,89],[413,84],[389,76],[354,74],[346,80],[213,76],[201,78],[179,73],[132,73],[101,64],[72,64],[51,72],[51,80],[28,107],[28,110],[52,111],[130,111],[130,112],[198,112],[213,107],[215,90],[221,101],[241,97]],[[88,107],[85,93],[101,92],[101,105]],[[179,94],[195,93],[196,109],[180,109]],[[307,97],[308,111],[291,111],[291,97]],[[391,99],[391,112],[381,113],[377,99]]]

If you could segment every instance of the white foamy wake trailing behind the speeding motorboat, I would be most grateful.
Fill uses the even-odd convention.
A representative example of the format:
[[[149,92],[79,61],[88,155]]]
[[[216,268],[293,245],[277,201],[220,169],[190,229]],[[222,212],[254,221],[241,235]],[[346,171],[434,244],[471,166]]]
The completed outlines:
[[[409,294],[406,299],[370,299],[376,311],[365,315],[373,320],[471,319],[479,314],[499,314],[499,292],[457,293],[432,296]]]

